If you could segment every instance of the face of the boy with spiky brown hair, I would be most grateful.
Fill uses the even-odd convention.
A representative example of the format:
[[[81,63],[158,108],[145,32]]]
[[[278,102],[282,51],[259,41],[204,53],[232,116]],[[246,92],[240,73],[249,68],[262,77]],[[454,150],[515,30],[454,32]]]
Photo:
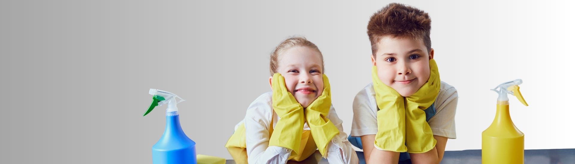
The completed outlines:
[[[377,67],[377,76],[385,85],[401,96],[413,95],[430,77],[430,53],[422,40],[384,37],[377,44],[371,62]]]

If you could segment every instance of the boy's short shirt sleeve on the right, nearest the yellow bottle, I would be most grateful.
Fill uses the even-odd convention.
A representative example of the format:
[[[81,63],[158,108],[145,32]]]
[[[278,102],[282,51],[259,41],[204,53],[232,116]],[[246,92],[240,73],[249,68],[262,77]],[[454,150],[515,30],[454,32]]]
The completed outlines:
[[[435,100],[436,114],[427,123],[434,135],[455,139],[455,111],[458,101],[457,89],[442,81],[442,89]]]

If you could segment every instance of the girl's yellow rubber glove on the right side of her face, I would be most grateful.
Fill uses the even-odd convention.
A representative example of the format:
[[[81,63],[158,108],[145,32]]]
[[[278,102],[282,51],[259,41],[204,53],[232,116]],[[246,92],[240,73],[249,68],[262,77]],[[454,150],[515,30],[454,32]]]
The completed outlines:
[[[339,134],[338,127],[327,118],[329,108],[331,107],[331,91],[329,87],[329,80],[325,74],[323,75],[324,88],[321,95],[313,100],[307,108],[305,108],[305,121],[308,123],[310,131],[312,132],[313,140],[316,142],[317,149],[323,157],[327,155],[327,145],[333,136]]]

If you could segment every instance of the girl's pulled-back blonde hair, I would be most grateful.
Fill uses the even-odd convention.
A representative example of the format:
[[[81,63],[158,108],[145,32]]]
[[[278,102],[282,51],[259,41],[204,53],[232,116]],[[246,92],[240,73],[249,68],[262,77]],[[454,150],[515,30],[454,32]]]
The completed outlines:
[[[271,76],[274,76],[274,73],[278,72],[278,63],[279,63],[278,58],[279,58],[279,56],[282,55],[287,50],[289,50],[290,48],[294,48],[296,46],[304,46],[307,48],[311,48],[313,50],[317,50],[317,52],[320,53],[320,58],[321,58],[321,72],[323,73],[325,71],[324,62],[323,62],[323,54],[321,54],[320,49],[317,48],[317,46],[315,44],[308,41],[305,37],[292,37],[292,38],[287,38],[285,41],[283,41],[281,44],[279,44],[277,47],[275,47],[274,52],[271,53],[271,56],[270,56],[270,75]]]

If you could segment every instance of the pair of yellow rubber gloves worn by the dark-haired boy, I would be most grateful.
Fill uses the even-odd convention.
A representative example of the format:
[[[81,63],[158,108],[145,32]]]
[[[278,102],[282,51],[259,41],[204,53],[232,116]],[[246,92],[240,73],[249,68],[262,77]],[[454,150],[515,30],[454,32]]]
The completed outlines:
[[[381,150],[425,153],[435,147],[431,127],[425,121],[425,109],[434,103],[440,88],[439,70],[430,60],[430,78],[417,92],[402,97],[395,89],[377,77],[377,68],[371,69],[375,90],[377,127],[374,145]]]

